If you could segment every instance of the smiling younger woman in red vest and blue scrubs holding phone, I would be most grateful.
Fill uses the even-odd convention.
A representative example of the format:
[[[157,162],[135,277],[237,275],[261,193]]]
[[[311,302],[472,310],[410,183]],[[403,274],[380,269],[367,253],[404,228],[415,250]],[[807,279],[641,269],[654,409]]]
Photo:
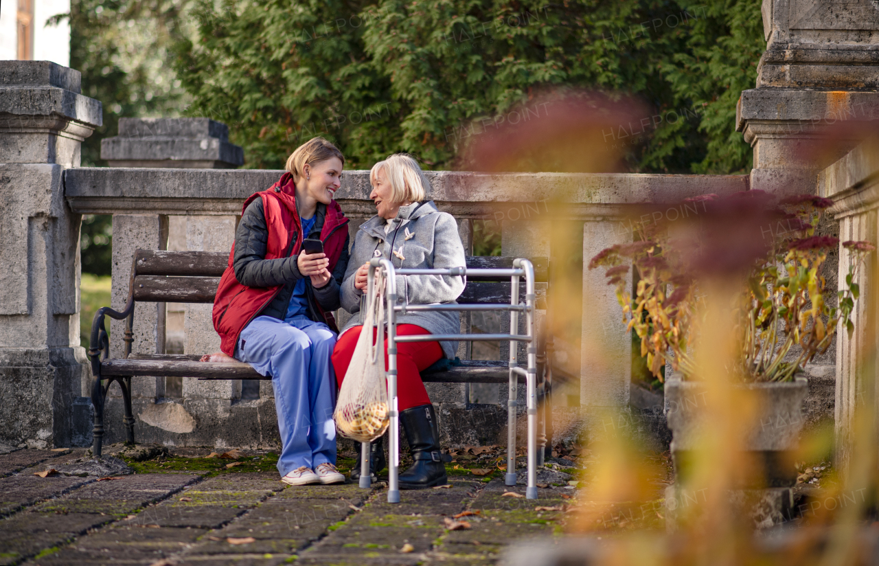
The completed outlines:
[[[290,485],[339,483],[336,344],[331,311],[348,265],[348,220],[333,194],[345,157],[323,138],[302,144],[287,173],[244,202],[229,267],[214,301],[222,351],[272,376],[282,450],[281,480]],[[323,253],[301,251],[303,238]]]

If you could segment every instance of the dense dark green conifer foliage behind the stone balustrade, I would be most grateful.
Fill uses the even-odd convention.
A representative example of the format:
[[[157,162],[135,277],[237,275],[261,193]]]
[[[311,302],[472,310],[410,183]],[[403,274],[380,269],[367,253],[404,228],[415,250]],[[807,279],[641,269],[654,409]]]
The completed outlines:
[[[758,0],[196,2],[187,113],[227,122],[247,167],[321,134],[353,167],[403,150],[447,169],[483,124],[571,88],[648,105],[606,134],[630,171],[751,166],[734,116],[765,48]]]

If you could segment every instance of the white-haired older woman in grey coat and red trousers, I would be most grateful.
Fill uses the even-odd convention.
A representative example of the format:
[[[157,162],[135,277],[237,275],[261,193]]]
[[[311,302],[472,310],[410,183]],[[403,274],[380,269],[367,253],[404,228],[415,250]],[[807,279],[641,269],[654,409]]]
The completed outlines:
[[[375,216],[364,222],[354,237],[351,261],[345,271],[341,302],[345,310],[360,311],[360,296],[367,288],[368,262],[388,258],[396,268],[443,268],[464,265],[464,247],[458,223],[451,214],[439,212],[425,200],[430,182],[418,163],[405,154],[375,163],[369,172]],[[439,275],[397,276],[396,293],[408,304],[454,303],[464,290],[463,277]],[[409,312],[397,316],[397,335],[458,334],[457,312]],[[351,363],[354,346],[363,329],[360,317],[352,316],[338,338],[332,354],[336,379],[341,385]],[[385,359],[387,363],[387,342]],[[446,468],[439,454],[439,424],[420,372],[446,357],[454,359],[455,342],[406,342],[397,348],[397,403],[400,422],[415,463],[399,476],[400,489],[416,490],[447,483]],[[361,447],[362,448],[362,447]],[[371,474],[384,467],[381,439],[372,443]],[[352,471],[352,479],[360,468]]]

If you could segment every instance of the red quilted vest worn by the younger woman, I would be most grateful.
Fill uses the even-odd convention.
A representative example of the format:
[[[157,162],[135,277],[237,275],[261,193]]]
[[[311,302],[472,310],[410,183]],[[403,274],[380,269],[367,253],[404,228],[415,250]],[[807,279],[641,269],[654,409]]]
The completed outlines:
[[[265,250],[265,259],[288,258],[299,253],[302,244],[302,227],[299,213],[296,211],[296,191],[293,184],[293,176],[284,173],[280,180],[268,190],[256,192],[244,201],[244,209],[255,199],[263,200],[265,210],[265,223],[268,227],[268,243]],[[323,253],[330,259],[330,271],[332,271],[342,248],[345,246],[345,236],[348,231],[345,224],[348,219],[342,213],[338,203],[333,200],[327,206],[326,216],[323,219],[321,240],[323,240]],[[214,298],[214,330],[220,334],[220,348],[229,356],[235,355],[235,346],[238,336],[244,327],[251,323],[258,314],[266,307],[275,295],[284,287],[247,287],[238,282],[232,263],[235,257],[235,244],[229,251],[229,265],[220,279],[217,294]],[[336,321],[330,312],[323,312],[319,304],[315,304],[317,311],[323,316],[326,323],[334,331],[338,332]]]

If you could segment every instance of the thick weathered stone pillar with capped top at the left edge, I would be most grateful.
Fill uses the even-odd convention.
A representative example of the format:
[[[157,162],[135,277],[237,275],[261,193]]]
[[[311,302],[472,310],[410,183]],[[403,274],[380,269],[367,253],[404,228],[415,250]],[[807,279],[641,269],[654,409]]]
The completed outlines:
[[[0,444],[84,444],[88,405],[76,403],[79,228],[63,171],[101,125],[78,71],[52,62],[0,61]],[[81,409],[79,414],[76,408]]]

